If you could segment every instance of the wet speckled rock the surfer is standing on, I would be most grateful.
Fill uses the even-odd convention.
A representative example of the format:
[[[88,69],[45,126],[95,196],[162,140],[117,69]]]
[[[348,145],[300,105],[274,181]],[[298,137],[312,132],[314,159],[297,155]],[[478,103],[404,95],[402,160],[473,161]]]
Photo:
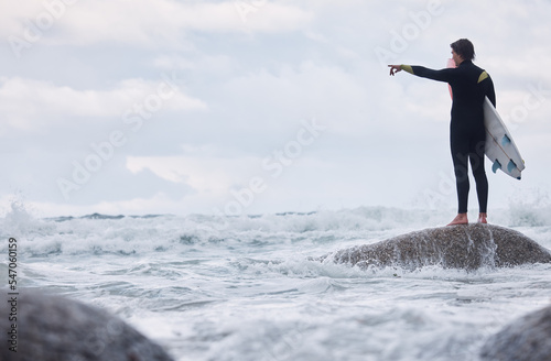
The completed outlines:
[[[551,262],[551,252],[528,237],[493,225],[426,229],[337,251],[326,258],[363,269],[425,265],[476,270]]]

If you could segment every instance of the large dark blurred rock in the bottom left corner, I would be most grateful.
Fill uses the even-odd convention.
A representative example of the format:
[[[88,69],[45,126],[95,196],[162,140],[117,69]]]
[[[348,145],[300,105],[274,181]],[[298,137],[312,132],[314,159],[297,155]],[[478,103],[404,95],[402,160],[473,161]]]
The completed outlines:
[[[160,346],[101,309],[30,288],[20,288],[15,296],[6,288],[0,293],[0,330],[8,338],[0,360],[172,360]],[[10,314],[17,320],[10,320]],[[10,350],[15,342],[17,353]]]

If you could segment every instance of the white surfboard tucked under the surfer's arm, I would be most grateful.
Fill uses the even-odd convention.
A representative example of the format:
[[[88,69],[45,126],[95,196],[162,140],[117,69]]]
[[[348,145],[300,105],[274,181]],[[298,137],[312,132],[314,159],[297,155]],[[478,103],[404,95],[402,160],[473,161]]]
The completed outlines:
[[[525,161],[520,156],[512,136],[488,97],[484,99],[484,127],[486,128],[486,156],[491,161],[491,171],[501,169],[514,178],[520,179]]]

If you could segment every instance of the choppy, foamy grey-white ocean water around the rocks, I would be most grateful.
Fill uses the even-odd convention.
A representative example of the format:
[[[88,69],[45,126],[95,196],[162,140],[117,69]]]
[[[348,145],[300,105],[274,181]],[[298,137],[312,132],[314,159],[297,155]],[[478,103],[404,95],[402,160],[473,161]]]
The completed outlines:
[[[551,249],[550,209],[489,216]],[[36,218],[12,205],[0,250],[17,239],[20,286],[107,309],[179,361],[477,360],[489,336],[550,304],[551,264],[363,271],[318,261],[452,218],[382,207]],[[0,277],[8,284],[7,260]]]

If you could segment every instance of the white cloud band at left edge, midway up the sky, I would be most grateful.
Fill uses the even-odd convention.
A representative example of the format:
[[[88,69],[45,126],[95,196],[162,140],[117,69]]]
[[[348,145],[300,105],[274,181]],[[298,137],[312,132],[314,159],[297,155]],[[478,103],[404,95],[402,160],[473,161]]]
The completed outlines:
[[[164,110],[206,109],[206,103],[186,96],[171,76],[158,81],[126,79],[112,89],[74,89],[51,81],[12,77],[0,78],[0,134],[9,129],[39,131],[53,123],[72,122],[79,118],[121,118],[136,107]],[[136,109],[138,109],[136,108]]]

